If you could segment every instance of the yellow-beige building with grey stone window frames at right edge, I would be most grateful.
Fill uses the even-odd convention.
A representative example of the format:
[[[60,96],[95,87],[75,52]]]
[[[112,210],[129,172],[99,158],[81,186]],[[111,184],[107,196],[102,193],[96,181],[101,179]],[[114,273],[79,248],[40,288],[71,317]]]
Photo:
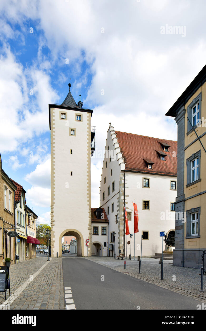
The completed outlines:
[[[166,115],[175,117],[178,125],[173,264],[201,268],[201,255],[206,250],[206,66]]]

